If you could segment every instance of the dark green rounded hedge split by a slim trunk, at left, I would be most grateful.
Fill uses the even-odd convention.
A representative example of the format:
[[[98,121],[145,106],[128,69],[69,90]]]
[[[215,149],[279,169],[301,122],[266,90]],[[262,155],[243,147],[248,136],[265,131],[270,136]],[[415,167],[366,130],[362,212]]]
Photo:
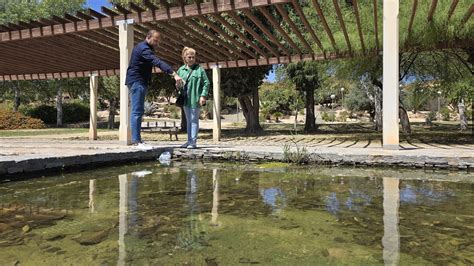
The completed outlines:
[[[41,119],[46,124],[55,124],[57,111],[55,106],[39,105],[26,108],[24,114],[33,118]],[[63,123],[77,123],[89,121],[89,107],[78,102],[63,104]]]

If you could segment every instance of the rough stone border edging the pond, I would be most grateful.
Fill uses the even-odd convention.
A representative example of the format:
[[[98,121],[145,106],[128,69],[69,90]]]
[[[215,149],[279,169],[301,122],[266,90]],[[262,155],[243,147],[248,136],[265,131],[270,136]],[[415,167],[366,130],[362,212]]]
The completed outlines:
[[[237,149],[157,148],[151,151],[109,152],[92,155],[35,158],[0,162],[0,180],[19,180],[32,175],[88,170],[91,168],[156,160],[169,151],[177,160],[284,162],[283,152],[248,152]],[[308,153],[307,164],[332,166],[436,168],[451,170],[474,169],[473,157],[434,157],[419,155],[345,155],[337,153]]]

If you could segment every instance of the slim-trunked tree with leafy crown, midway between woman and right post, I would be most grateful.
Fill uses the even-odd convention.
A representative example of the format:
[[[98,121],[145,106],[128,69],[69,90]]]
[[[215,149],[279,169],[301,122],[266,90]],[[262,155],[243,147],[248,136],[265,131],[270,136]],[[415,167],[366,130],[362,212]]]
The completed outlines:
[[[317,129],[314,113],[314,91],[319,88],[318,63],[301,61],[286,67],[288,77],[296,85],[296,89],[305,94],[306,122],[304,130],[312,132]]]

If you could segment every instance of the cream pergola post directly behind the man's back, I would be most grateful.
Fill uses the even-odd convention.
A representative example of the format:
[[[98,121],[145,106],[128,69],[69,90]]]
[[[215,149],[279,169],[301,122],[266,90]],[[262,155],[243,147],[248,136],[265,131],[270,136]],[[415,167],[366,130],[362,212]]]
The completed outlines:
[[[130,129],[130,101],[128,97],[128,87],[125,85],[128,63],[133,49],[133,20],[117,21],[119,27],[119,47],[120,47],[120,129],[119,141],[122,144],[132,143]]]

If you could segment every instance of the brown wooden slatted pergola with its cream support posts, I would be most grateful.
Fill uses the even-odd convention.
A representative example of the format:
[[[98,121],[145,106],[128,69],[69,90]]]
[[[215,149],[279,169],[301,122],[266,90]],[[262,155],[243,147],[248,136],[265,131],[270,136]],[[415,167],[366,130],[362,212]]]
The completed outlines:
[[[64,17],[19,22],[0,26],[0,80],[31,80],[91,76],[91,114],[96,113],[97,75],[121,74],[121,102],[128,102],[123,85],[133,45],[144,39],[150,29],[162,33],[159,57],[177,67],[181,64],[183,46],[198,50],[202,65],[213,68],[215,106],[219,107],[219,68],[281,64],[301,60],[324,60],[377,54],[381,50],[380,9],[383,2],[384,53],[384,147],[398,148],[398,0],[373,1],[373,17],[361,17],[358,1],[353,0],[355,25],[343,18],[343,8],[333,0],[334,14],[324,12],[322,1],[312,0],[310,11],[296,0],[213,0],[172,6],[165,0],[156,5],[103,7],[101,12],[89,9]],[[433,20],[437,0],[432,0],[425,23]],[[447,19],[462,12],[467,23],[474,5],[459,10],[453,0]],[[326,3],[327,4],[327,3]],[[410,22],[402,32],[410,34],[417,16],[414,0]],[[146,7],[146,8],[145,8]],[[364,6],[364,8],[367,8]],[[255,11],[255,12],[253,12]],[[256,15],[258,14],[258,15]],[[315,25],[308,20],[318,17]],[[338,28],[328,23],[337,18]],[[352,18],[351,18],[352,20]],[[362,23],[365,21],[366,23]],[[348,23],[346,25],[346,23]],[[371,25],[368,29],[367,25]],[[350,38],[351,27],[358,40]],[[343,33],[343,41],[335,34]],[[406,48],[406,47],[403,47]],[[215,112],[215,139],[220,138],[219,108]],[[127,104],[121,104],[120,140],[130,142]],[[96,137],[95,115],[91,116],[91,138]]]

